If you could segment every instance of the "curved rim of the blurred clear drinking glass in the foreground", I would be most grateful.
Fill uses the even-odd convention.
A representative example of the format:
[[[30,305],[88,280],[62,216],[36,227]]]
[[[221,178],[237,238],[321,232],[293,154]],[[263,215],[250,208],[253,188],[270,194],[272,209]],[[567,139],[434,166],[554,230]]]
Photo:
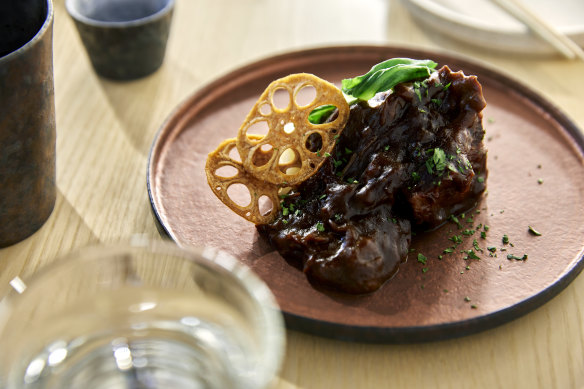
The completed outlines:
[[[59,256],[51,263],[43,266],[38,271],[20,279],[23,289],[18,290],[8,287],[3,296],[0,296],[0,334],[4,331],[4,326],[10,320],[12,305],[26,294],[28,286],[37,282],[43,282],[50,277],[50,274],[59,269],[66,269],[72,264],[82,262],[92,262],[106,254],[122,253],[126,250],[150,250],[171,254],[194,264],[213,269],[223,274],[227,274],[238,282],[258,305],[263,327],[264,346],[262,347],[265,366],[258,371],[258,384],[260,388],[268,385],[276,379],[284,360],[286,350],[286,333],[284,318],[279,309],[275,296],[267,284],[261,280],[251,268],[240,262],[232,255],[212,247],[182,246],[174,242],[153,240],[143,236],[132,236],[114,243],[93,243],[74,249],[64,255]],[[80,254],[83,254],[80,258]],[[11,284],[12,286],[12,284]],[[4,286],[2,286],[3,289]],[[0,386],[2,376],[0,374]]]

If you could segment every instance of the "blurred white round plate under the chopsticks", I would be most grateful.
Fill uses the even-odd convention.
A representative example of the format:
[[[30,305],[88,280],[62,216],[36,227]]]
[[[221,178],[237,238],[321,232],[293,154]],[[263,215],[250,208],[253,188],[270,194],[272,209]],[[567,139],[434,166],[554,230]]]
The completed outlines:
[[[584,45],[584,2],[530,0],[538,15],[580,45]],[[421,26],[465,43],[514,54],[556,54],[557,51],[527,26],[491,0],[405,0]]]

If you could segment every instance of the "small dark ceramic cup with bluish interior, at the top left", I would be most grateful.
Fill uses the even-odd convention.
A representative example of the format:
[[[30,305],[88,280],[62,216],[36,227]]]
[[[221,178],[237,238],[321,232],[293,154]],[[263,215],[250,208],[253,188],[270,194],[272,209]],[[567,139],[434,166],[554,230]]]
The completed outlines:
[[[65,5],[100,76],[132,80],[162,65],[174,0],[66,0]]]

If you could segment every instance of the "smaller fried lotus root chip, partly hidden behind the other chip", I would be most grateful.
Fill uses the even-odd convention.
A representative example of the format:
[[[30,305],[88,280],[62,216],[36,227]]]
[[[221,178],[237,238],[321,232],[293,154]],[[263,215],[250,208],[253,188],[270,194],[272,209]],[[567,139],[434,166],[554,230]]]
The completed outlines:
[[[227,139],[209,154],[205,166],[207,182],[233,212],[255,224],[267,223],[278,212],[279,188],[248,173],[241,162],[230,156],[234,148],[235,139]],[[241,204],[241,201],[249,203]]]

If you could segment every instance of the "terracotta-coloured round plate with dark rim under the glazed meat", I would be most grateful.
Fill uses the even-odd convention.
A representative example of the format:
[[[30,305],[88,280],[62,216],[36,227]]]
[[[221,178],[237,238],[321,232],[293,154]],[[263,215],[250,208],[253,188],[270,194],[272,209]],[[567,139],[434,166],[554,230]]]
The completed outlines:
[[[453,223],[413,239],[407,263],[376,293],[352,296],[310,285],[209,189],[207,153],[234,137],[274,79],[310,72],[340,84],[390,57],[431,58],[478,75],[488,107],[488,194],[467,212],[465,237]],[[551,299],[584,264],[584,138],[551,103],[498,72],[447,54],[395,47],[330,47],[265,59],[200,89],[163,124],[152,146],[148,190],[162,230],[180,245],[219,247],[270,286],[290,328],[341,339],[417,342],[475,333],[515,319]],[[542,181],[540,181],[540,179]],[[480,212],[480,213],[479,213]],[[535,236],[532,226],[541,232]],[[481,229],[484,231],[484,228]],[[508,235],[510,244],[503,244]],[[480,260],[463,259],[473,239]],[[512,245],[511,245],[512,244]],[[487,247],[496,248],[496,257]],[[501,251],[501,249],[506,251]],[[417,261],[417,254],[428,258]],[[526,261],[507,259],[508,254]],[[468,267],[467,267],[468,266]],[[426,270],[423,270],[426,269]],[[470,301],[468,301],[470,300]]]

